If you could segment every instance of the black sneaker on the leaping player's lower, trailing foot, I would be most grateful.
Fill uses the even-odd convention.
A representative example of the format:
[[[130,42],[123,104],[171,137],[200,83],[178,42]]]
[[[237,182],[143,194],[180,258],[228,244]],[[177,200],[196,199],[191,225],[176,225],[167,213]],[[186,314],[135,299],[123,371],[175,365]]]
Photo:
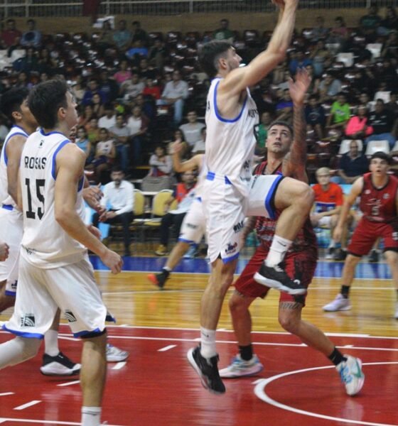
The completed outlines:
[[[187,352],[189,364],[198,373],[200,381],[204,388],[212,393],[220,395],[225,393],[225,386],[218,373],[217,362],[218,355],[212,356],[210,359],[200,354],[200,346],[189,349]]]

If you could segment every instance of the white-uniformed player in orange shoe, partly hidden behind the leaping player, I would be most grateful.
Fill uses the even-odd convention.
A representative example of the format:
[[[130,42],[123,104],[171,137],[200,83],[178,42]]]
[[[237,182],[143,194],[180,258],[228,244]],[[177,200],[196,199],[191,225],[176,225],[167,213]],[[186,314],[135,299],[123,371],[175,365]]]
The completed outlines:
[[[154,283],[158,288],[163,288],[171,271],[178,265],[181,258],[188,251],[190,244],[199,244],[206,231],[205,214],[203,212],[201,188],[207,169],[204,164],[205,155],[194,155],[189,160],[181,163],[180,153],[183,150],[181,140],[177,140],[171,146],[173,152],[173,169],[177,173],[188,172],[189,170],[198,170],[198,182],[195,186],[196,198],[191,204],[188,213],[185,214],[183,223],[181,224],[180,235],[178,236],[178,243],[173,247],[173,250],[168,256],[166,265],[163,266],[160,273],[150,273],[148,279]]]

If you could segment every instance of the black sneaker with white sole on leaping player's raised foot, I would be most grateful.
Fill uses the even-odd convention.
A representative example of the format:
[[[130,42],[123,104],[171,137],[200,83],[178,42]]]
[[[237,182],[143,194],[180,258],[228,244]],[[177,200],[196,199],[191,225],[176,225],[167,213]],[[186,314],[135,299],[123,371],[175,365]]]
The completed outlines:
[[[261,268],[254,274],[254,280],[270,288],[289,293],[289,295],[304,295],[307,289],[301,285],[300,280],[291,280],[282,268],[282,264],[267,266],[264,262]]]

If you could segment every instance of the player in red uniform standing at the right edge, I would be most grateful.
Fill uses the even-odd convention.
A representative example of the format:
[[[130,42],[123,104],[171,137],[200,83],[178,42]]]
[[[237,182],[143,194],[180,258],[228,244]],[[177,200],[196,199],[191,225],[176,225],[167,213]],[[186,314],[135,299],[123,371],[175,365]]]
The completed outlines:
[[[323,310],[334,312],[351,309],[348,294],[354,280],[355,268],[360,258],[369,253],[379,237],[384,239],[384,256],[398,290],[398,179],[388,174],[390,161],[386,153],[374,153],[370,158],[370,173],[355,180],[350,194],[345,198],[333,233],[335,241],[341,238],[350,208],[357,197],[360,197],[360,210],[363,216],[347,248],[348,256],[345,258],[343,268],[341,292],[335,300],[325,305]],[[398,320],[398,302],[394,318]]]

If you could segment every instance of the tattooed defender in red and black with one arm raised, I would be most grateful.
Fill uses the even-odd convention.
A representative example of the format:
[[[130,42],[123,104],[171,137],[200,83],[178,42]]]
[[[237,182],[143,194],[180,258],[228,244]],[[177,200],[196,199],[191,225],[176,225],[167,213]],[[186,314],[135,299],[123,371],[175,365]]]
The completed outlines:
[[[294,104],[294,136],[291,126],[283,121],[274,121],[267,136],[267,160],[254,170],[254,174],[282,173],[284,176],[308,182],[306,175],[306,121],[303,115],[303,101],[311,83],[306,70],[298,70],[296,81],[289,82],[289,92]],[[276,220],[265,217],[250,217],[244,229],[244,237],[254,228],[260,246],[247,263],[235,283],[235,292],[230,298],[230,311],[239,345],[239,354],[232,364],[220,370],[222,378],[252,376],[262,371],[262,364],[253,354],[250,333],[252,318],[249,306],[257,297],[266,297],[269,288],[254,281],[264,258],[267,257]],[[316,236],[308,217],[294,244],[284,259],[286,273],[298,278],[306,287],[311,283],[318,259]],[[307,346],[321,351],[335,364],[349,395],[355,395],[363,385],[361,362],[353,356],[343,355],[333,342],[313,324],[301,320],[305,295],[292,296],[281,293],[279,298],[279,323],[286,331],[295,334]],[[347,368],[348,367],[348,368]]]

